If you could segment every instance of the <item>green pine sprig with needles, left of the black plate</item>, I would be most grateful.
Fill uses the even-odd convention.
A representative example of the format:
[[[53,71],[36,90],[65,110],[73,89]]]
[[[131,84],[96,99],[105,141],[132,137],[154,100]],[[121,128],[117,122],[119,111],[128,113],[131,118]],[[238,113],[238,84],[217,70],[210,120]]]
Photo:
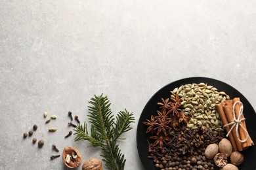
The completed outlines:
[[[133,112],[118,112],[116,118],[110,109],[110,101],[107,96],[99,95],[89,101],[89,122],[91,123],[91,135],[88,133],[87,124],[77,124],[75,129],[75,141],[89,141],[89,146],[100,146],[104,152],[103,161],[106,166],[114,170],[123,170],[125,167],[125,156],[121,154],[117,139],[121,134],[131,130],[131,123],[135,122]]]

